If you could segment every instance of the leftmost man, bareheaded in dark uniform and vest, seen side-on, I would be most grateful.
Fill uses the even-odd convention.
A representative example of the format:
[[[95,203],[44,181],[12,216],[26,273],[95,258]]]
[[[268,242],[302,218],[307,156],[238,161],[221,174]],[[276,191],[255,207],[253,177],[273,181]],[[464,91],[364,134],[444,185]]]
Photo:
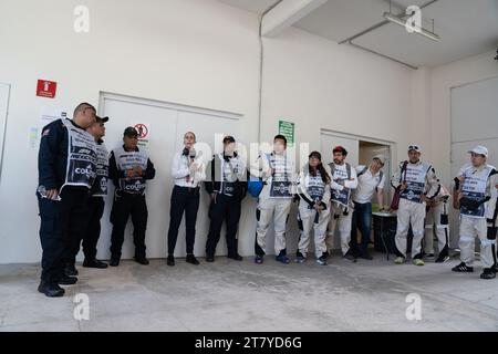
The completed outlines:
[[[58,119],[42,129],[37,197],[43,254],[38,291],[50,298],[64,295],[59,285],[77,281],[64,269],[74,269],[73,246],[82,239],[87,221],[96,147],[85,129],[95,122],[95,115],[94,106],[82,103],[74,110],[73,119]]]

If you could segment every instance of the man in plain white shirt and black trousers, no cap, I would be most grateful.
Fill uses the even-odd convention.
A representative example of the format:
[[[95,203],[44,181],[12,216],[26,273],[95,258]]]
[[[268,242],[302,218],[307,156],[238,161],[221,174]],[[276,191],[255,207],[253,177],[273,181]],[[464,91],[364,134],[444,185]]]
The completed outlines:
[[[201,154],[197,154],[194,145],[196,135],[187,132],[184,135],[184,149],[173,158],[172,175],[175,178],[175,187],[172,194],[168,229],[168,259],[169,267],[175,266],[175,247],[178,238],[178,228],[185,212],[187,259],[190,264],[198,266],[199,261],[194,256],[196,239],[197,211],[199,209],[199,185],[206,179],[205,166]]]

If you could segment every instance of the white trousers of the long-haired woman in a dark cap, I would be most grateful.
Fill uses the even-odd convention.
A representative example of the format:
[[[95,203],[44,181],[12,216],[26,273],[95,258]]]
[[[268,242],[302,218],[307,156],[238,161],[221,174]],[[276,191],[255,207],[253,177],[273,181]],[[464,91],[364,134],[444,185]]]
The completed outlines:
[[[308,204],[301,201],[299,204],[298,222],[300,228],[299,236],[299,251],[307,257],[310,246],[310,233],[314,231],[314,254],[320,258],[323,252],[326,252],[325,237],[326,226],[330,218],[330,206],[325,210],[319,214],[318,223],[315,223],[317,211],[314,209],[308,209]]]

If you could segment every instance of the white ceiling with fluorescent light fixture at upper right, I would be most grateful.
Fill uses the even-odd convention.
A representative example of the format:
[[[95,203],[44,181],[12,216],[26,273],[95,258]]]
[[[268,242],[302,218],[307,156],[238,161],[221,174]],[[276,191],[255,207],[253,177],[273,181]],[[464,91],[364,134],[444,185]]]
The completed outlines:
[[[262,13],[276,0],[220,0]],[[286,0],[283,0],[286,1]],[[429,0],[393,1],[392,12],[404,12],[411,4],[422,7]],[[294,27],[341,42],[384,19],[387,0],[329,0]],[[498,46],[498,0],[437,0],[422,10],[424,28],[440,35],[434,42],[402,27],[388,23],[369,32],[353,43],[414,66],[437,66]],[[347,44],[343,44],[347,45]]]

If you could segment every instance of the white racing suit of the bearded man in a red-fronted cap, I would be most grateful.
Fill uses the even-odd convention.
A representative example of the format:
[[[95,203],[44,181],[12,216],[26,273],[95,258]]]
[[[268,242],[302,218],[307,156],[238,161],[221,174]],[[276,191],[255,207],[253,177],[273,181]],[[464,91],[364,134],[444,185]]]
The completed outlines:
[[[341,237],[341,251],[345,256],[350,251],[351,227],[353,218],[352,189],[357,187],[356,170],[349,164],[329,164],[331,169],[331,217],[325,238],[326,250],[333,248],[335,229],[339,228]],[[342,185],[342,184],[343,185]]]

